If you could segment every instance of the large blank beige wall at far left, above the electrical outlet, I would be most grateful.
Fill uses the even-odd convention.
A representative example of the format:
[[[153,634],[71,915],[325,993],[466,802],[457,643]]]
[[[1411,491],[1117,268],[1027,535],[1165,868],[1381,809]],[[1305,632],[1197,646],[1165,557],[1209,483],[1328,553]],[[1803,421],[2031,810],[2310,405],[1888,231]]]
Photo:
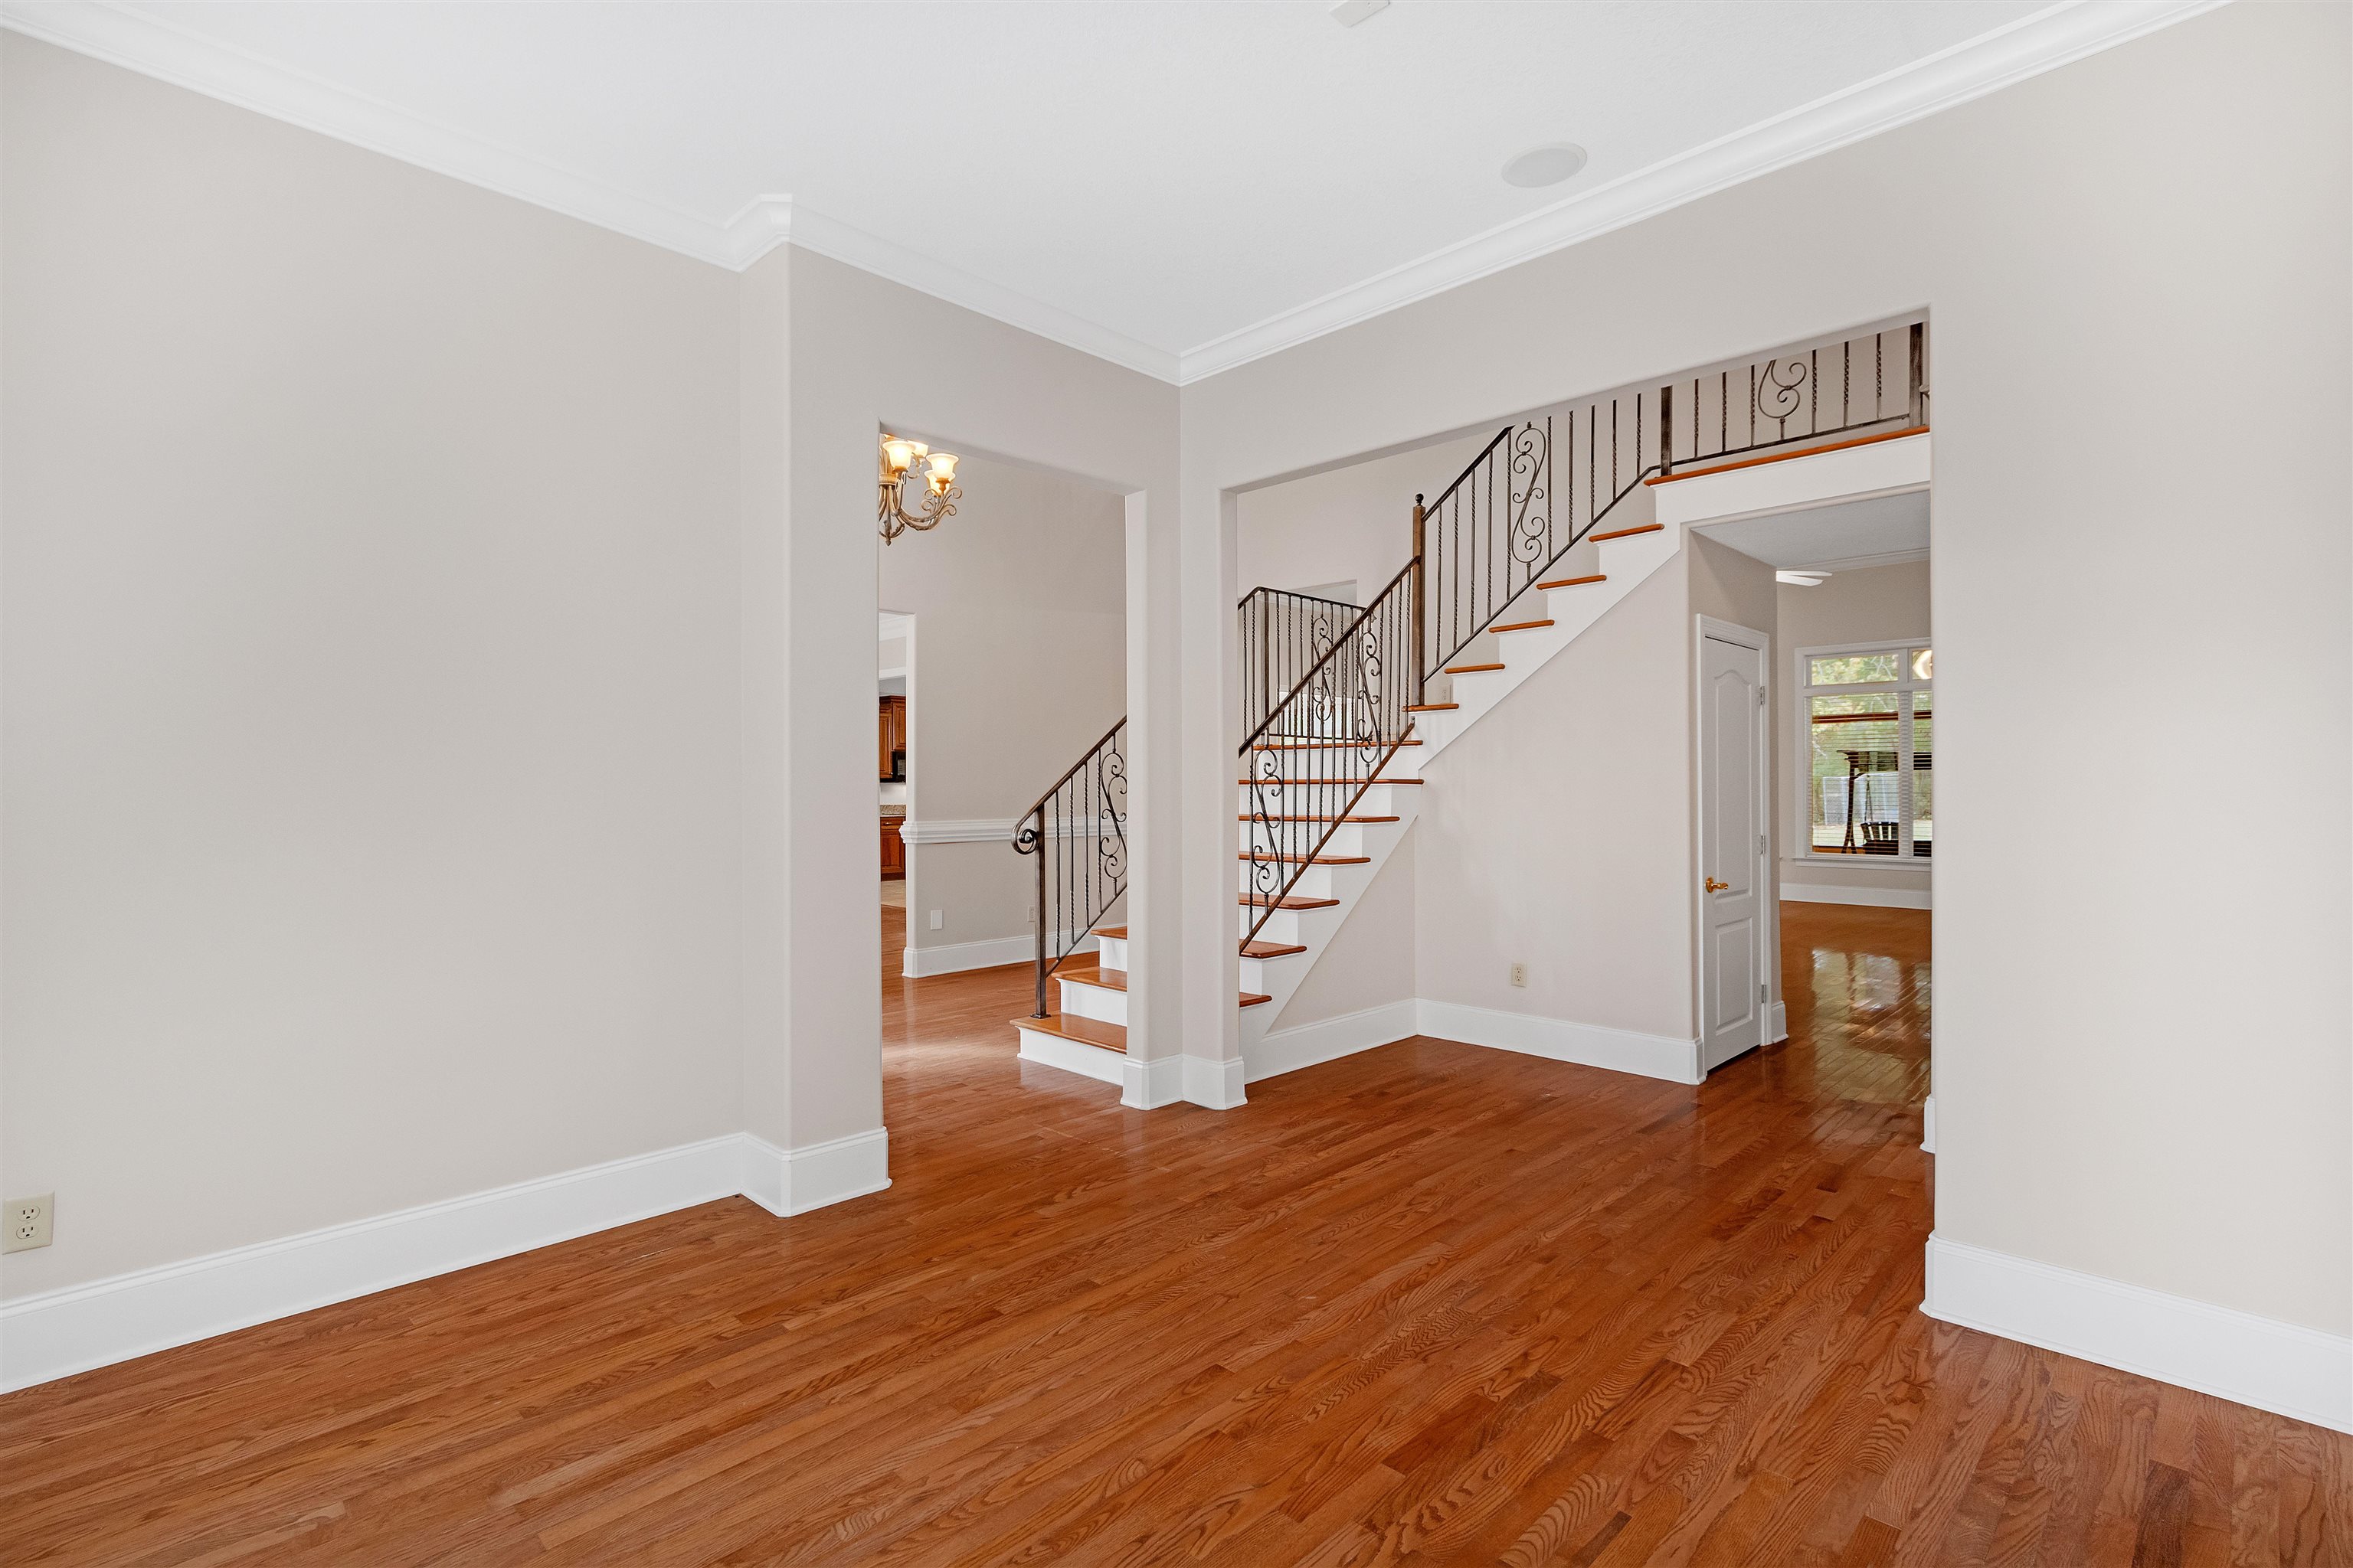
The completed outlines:
[[[734,1131],[734,280],[0,68],[7,1295]]]

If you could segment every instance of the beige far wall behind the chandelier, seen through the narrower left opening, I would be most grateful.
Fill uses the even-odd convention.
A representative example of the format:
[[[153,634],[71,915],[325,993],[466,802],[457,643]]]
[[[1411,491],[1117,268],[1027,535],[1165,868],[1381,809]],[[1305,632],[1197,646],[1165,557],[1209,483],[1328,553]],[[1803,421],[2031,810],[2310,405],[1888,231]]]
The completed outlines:
[[[882,604],[915,616],[915,823],[1012,820],[1127,712],[1118,491],[974,454],[958,482],[955,517],[880,548]],[[908,846],[911,947],[1028,936],[1033,900],[1007,839]]]

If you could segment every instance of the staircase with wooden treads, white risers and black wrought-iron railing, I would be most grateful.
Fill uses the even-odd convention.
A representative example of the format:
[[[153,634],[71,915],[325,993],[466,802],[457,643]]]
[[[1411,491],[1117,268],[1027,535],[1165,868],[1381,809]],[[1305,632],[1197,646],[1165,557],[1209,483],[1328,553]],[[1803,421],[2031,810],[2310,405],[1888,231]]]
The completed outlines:
[[[1892,357],[1899,395],[1887,388]],[[1280,1027],[1282,1011],[1407,839],[1426,792],[1445,788],[1433,764],[1447,745],[1682,548],[1680,527],[1657,520],[1652,484],[1925,425],[1925,322],[1722,367],[1499,430],[1435,503],[1414,498],[1412,559],[1362,609],[1245,595],[1245,1079],[1304,1065],[1304,1032]],[[1073,839],[1047,804],[1024,827],[1040,846],[1040,891],[1045,849]],[[1125,863],[1125,811],[1120,835]],[[1066,936],[1049,952],[1040,922],[1038,1016],[1014,1025],[1026,1060],[1125,1084],[1127,929],[1096,938],[1092,959]]]

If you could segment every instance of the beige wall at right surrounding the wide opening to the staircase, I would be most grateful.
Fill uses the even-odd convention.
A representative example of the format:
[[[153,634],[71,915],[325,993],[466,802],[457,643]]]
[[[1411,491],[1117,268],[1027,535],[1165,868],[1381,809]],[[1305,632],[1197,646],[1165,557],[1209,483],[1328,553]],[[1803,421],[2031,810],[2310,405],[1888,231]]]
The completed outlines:
[[[1221,491],[1927,306],[1939,1232],[2332,1333],[2353,1328],[2346,28],[2226,7],[1188,386],[1179,590],[1231,595]],[[2101,677],[2113,755],[2165,759],[2120,771],[2115,811],[2162,853],[2085,856],[2014,788],[2021,745],[2080,748],[2052,668]],[[2299,853],[2195,832],[2245,788],[2214,715],[2311,792]],[[1188,780],[1188,825],[1214,804]],[[1207,835],[1186,853],[1207,889]],[[1447,919],[1431,877],[1421,903]]]

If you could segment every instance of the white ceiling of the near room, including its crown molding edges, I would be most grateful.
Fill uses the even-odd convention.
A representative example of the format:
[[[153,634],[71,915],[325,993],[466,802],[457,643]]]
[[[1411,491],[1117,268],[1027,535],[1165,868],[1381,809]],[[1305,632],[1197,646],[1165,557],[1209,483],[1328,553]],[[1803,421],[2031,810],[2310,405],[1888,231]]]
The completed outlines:
[[[722,266],[1188,381],[2212,0],[113,5],[0,19]],[[1574,141],[1544,190],[1506,158]],[[762,200],[765,197],[765,200]]]

